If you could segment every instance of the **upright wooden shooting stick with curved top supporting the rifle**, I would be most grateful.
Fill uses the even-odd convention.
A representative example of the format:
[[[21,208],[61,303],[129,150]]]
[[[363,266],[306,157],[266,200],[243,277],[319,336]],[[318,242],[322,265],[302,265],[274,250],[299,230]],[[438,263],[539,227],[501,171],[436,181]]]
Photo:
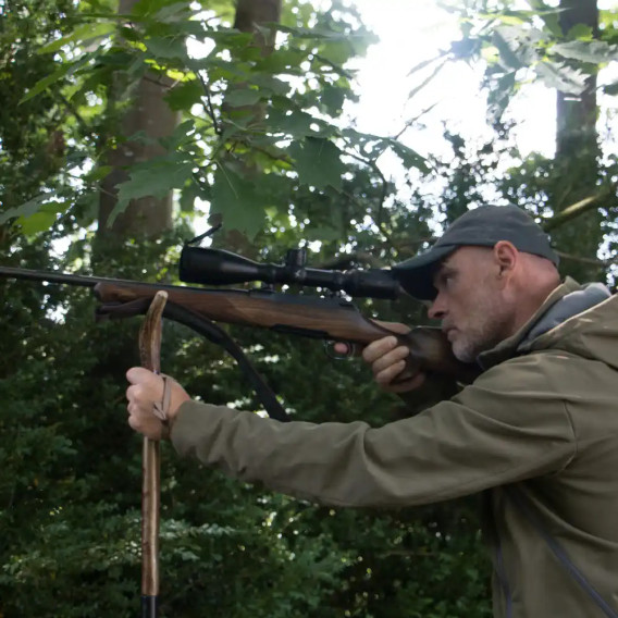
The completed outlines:
[[[139,330],[141,367],[161,373],[161,326],[166,292],[157,292]],[[144,438],[141,450],[141,618],[159,616],[160,444]]]

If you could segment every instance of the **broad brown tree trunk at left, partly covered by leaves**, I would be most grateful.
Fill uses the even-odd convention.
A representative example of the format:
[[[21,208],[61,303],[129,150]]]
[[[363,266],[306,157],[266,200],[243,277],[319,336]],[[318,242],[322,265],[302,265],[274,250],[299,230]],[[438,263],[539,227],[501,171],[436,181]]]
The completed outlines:
[[[129,13],[137,0],[120,0],[119,12]],[[157,141],[173,133],[180,116],[170,110],[163,100],[168,84],[161,77],[143,77],[137,86],[135,98],[129,111],[122,120],[122,135],[129,137],[143,132],[148,138]],[[112,95],[113,96],[113,95]],[[112,101],[113,104],[113,101]],[[107,164],[113,171],[101,184],[99,200],[99,239],[125,237],[154,238],[172,228],[173,194],[170,191],[162,199],[147,196],[132,200],[127,209],[120,214],[113,224],[108,226],[108,220],[116,205],[118,185],[127,180],[124,168],[140,161],[148,161],[164,152],[158,143],[143,144],[125,141],[110,151]]]

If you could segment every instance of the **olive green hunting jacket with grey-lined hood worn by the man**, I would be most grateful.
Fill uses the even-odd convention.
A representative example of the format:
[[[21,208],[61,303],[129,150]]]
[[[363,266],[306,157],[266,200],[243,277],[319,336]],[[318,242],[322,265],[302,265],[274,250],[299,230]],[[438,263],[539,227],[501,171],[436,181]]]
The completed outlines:
[[[567,280],[448,400],[381,428],[183,404],[172,442],[317,503],[483,493],[500,618],[618,618],[618,297]]]

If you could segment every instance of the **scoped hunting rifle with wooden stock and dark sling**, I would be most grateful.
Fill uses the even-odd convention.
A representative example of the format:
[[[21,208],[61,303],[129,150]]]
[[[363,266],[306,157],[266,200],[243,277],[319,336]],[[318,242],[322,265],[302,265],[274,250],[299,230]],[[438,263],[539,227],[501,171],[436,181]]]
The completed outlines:
[[[407,372],[441,373],[460,382],[471,382],[478,369],[453,356],[440,329],[416,326],[407,334],[378,324],[360,313],[351,297],[397,298],[403,292],[396,274],[369,269],[331,271],[306,268],[304,249],[288,251],[284,264],[260,264],[223,249],[185,246],[181,254],[180,277],[184,283],[230,285],[260,281],[267,287],[254,289],[205,288],[141,283],[97,276],[40,272],[0,267],[0,276],[92,287],[101,302],[97,319],[119,319],[146,313],[158,291],[168,293],[163,316],[183,323],[222,345],[247,373],[270,416],[286,420],[275,395],[250,366],[243,350],[213,322],[271,329],[292,335],[367,345],[395,335],[410,349]],[[301,285],[330,291],[330,296],[277,292],[274,285]]]

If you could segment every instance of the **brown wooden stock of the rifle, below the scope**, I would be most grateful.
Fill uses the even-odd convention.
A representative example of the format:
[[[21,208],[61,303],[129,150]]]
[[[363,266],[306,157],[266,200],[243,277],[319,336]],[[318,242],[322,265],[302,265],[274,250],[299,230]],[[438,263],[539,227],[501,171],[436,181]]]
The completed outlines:
[[[417,326],[407,334],[395,333],[362,316],[342,298],[281,294],[262,289],[200,289],[163,287],[169,302],[215,322],[271,329],[306,337],[367,345],[394,335],[410,349],[406,372],[436,372],[471,382],[479,374],[475,366],[460,362],[440,329]],[[108,305],[151,299],[161,286],[100,282],[95,295]],[[383,325],[382,325],[383,324]]]

